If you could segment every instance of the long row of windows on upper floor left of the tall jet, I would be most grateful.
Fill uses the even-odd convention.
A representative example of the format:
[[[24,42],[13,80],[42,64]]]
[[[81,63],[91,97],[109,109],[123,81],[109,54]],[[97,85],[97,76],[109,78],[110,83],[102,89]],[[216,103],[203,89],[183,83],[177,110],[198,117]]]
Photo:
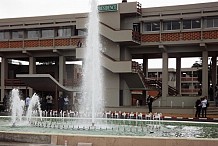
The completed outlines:
[[[12,30],[0,31],[0,40],[4,39],[36,39],[36,38],[53,38],[53,37],[70,37],[75,35],[85,35],[85,30],[77,30],[73,27],[32,29],[32,30]]]

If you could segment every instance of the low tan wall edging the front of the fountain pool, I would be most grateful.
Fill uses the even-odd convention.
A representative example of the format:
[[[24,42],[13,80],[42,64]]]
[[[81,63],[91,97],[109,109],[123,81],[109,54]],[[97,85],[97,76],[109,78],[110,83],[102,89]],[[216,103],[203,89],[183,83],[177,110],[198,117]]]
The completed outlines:
[[[93,146],[217,146],[218,138],[174,138],[139,136],[104,136],[71,134],[35,134],[0,132],[2,142],[55,144],[77,146],[78,143],[92,143]]]

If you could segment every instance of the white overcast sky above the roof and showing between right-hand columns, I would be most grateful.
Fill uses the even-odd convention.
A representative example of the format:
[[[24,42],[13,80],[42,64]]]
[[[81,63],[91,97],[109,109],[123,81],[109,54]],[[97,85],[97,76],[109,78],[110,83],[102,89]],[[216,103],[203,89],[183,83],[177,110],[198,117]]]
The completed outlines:
[[[215,2],[216,0],[127,0],[140,2],[142,8]],[[98,0],[98,4],[121,3],[122,0]],[[90,0],[0,0],[0,19],[84,13],[90,10]],[[161,68],[162,60],[149,60],[149,68]],[[182,67],[191,67],[199,58],[182,59]],[[155,63],[154,63],[155,62]],[[158,63],[157,63],[158,62]],[[169,68],[175,68],[169,59]]]

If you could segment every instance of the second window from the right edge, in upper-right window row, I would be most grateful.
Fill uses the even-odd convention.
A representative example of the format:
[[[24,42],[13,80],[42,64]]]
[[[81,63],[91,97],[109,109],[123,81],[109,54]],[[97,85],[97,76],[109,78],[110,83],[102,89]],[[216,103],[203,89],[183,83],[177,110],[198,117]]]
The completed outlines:
[[[183,29],[201,28],[201,19],[183,20]]]

